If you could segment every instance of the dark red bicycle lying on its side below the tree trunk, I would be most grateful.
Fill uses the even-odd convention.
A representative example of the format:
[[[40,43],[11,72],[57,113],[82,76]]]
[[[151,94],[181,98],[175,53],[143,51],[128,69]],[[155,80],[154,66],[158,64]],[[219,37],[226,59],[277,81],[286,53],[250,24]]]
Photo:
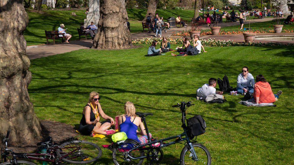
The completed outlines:
[[[35,165],[35,163],[17,160],[17,158],[45,161],[53,164],[59,164],[63,161],[73,164],[86,164],[98,160],[102,154],[101,148],[92,142],[69,137],[53,143],[50,136],[44,141],[37,143],[40,146],[38,150],[45,149],[47,153],[15,153],[12,149],[8,149],[7,146],[9,133],[10,131],[7,131],[6,137],[3,139],[3,145],[5,144],[5,147],[1,148],[1,158],[4,163],[0,165]],[[7,159],[10,160],[7,161]]]

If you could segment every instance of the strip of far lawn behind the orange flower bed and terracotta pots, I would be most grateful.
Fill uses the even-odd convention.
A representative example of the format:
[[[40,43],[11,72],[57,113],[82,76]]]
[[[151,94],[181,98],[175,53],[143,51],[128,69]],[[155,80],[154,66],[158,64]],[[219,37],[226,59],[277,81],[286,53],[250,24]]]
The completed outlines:
[[[284,20],[282,21],[283,24]],[[247,20],[245,22],[246,24],[244,24],[244,28],[249,28],[249,20]],[[273,30],[274,27],[273,25],[276,25],[276,21],[272,20],[272,21],[266,21],[266,22],[258,22],[258,23],[250,23],[250,28],[253,30],[256,29],[271,29]],[[221,24],[220,24],[221,26]],[[221,30],[237,30],[240,29],[240,25],[236,25],[236,26],[228,26],[228,27],[222,27]],[[288,29],[288,30],[293,30],[294,29],[294,24],[289,24],[289,25],[284,25],[283,29]]]

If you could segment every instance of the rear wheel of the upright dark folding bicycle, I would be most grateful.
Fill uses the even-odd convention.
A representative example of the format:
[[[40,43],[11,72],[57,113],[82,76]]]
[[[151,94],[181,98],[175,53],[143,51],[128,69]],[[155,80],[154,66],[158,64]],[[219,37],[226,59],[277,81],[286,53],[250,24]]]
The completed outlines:
[[[136,145],[133,142],[127,142],[128,146]],[[121,148],[114,148],[112,151],[112,160],[115,165],[123,165],[123,164],[136,164],[141,165],[144,159],[130,159],[124,154],[124,149]],[[141,157],[144,156],[144,151],[133,150],[129,153],[132,157]]]

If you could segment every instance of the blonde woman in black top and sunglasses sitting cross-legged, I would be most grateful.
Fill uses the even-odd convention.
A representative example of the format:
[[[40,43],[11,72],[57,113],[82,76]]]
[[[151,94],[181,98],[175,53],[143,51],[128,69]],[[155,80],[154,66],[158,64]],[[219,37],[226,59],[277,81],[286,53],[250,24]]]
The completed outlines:
[[[103,112],[99,103],[100,98],[97,92],[90,93],[89,101],[84,107],[83,117],[79,126],[79,132],[83,135],[111,135],[115,133],[114,130],[107,130],[111,125],[114,125],[114,120]],[[100,115],[106,120],[99,122]]]

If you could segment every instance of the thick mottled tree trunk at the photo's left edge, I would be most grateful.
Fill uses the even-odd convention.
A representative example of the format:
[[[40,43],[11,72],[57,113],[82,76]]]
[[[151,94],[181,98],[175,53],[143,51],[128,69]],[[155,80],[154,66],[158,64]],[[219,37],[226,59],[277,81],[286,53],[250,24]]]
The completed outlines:
[[[32,78],[23,37],[27,23],[22,0],[0,1],[0,138],[10,127],[12,144],[27,144],[41,136],[27,91]]]

